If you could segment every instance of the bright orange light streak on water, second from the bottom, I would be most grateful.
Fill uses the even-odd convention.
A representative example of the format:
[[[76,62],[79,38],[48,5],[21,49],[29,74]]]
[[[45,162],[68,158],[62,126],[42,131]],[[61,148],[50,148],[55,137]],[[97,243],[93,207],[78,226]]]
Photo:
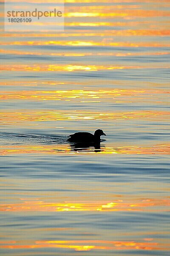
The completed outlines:
[[[169,198],[152,198],[152,199],[133,199],[133,201],[116,200],[108,201],[86,201],[86,202],[63,202],[63,203],[45,203],[44,201],[24,201],[17,204],[0,204],[0,211],[6,212],[73,212],[73,211],[147,211],[149,207],[154,212],[162,207],[159,211],[166,211],[163,208],[170,205]]]

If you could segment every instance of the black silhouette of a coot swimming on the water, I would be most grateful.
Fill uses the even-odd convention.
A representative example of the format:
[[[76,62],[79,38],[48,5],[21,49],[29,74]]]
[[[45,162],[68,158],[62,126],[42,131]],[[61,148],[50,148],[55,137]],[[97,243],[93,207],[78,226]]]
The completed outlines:
[[[69,135],[69,142],[81,142],[81,143],[100,143],[100,136],[106,134],[101,130],[97,129],[94,134],[90,132],[76,132],[75,134]]]

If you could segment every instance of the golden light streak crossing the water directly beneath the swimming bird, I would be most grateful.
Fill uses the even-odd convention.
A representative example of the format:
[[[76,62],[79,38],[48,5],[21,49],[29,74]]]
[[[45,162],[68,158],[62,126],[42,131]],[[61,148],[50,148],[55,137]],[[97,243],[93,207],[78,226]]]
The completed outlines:
[[[8,154],[170,154],[170,144],[162,143],[160,145],[136,146],[126,145],[121,147],[105,147],[94,148],[75,148],[67,144],[53,145],[6,145],[0,146],[0,155]]]

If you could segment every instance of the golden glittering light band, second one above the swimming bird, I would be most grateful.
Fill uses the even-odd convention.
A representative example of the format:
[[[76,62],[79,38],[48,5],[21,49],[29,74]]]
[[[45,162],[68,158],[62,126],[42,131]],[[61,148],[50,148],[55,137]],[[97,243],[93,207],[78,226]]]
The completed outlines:
[[[66,99],[111,99],[123,96],[133,96],[131,102],[144,102],[148,95],[156,94],[155,100],[160,99],[161,94],[170,93],[167,90],[147,90],[147,89],[99,89],[99,90],[22,90],[22,91],[1,91],[0,100],[28,99],[28,100],[66,100]],[[140,96],[143,96],[140,99]],[[82,101],[85,102],[85,101]],[[122,101],[123,102],[123,101]],[[162,102],[161,102],[162,104]]]

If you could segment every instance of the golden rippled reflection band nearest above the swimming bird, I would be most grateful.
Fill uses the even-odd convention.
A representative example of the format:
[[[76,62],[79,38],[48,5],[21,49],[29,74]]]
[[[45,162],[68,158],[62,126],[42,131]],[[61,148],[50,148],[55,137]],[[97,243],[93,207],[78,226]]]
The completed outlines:
[[[24,121],[57,121],[57,120],[125,120],[125,119],[148,119],[169,121],[170,111],[129,111],[129,112],[90,112],[90,111],[6,111],[0,112],[2,123]]]

